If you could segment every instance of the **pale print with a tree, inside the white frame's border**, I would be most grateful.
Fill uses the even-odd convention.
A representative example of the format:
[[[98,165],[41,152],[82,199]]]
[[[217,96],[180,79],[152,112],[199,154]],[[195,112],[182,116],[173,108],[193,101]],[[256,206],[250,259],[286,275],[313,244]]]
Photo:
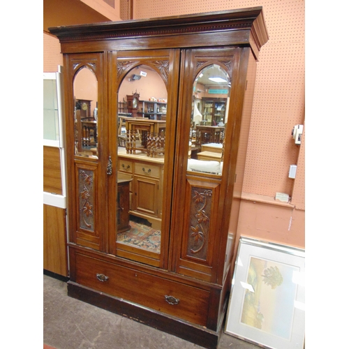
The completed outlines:
[[[251,257],[241,322],[290,339],[298,272],[298,267]]]

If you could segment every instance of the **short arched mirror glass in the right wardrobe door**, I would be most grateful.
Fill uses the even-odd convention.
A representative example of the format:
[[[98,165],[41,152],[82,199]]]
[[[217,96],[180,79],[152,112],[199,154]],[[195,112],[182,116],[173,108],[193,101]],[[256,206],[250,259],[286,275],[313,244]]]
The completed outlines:
[[[206,66],[195,78],[188,171],[222,174],[230,87],[228,73],[217,64]]]

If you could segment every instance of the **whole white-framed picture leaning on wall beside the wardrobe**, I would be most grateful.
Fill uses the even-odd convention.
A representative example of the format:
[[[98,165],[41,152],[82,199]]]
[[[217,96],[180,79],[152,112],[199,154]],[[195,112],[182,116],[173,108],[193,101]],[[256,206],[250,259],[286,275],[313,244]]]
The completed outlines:
[[[263,348],[304,348],[305,251],[241,237],[225,333]]]

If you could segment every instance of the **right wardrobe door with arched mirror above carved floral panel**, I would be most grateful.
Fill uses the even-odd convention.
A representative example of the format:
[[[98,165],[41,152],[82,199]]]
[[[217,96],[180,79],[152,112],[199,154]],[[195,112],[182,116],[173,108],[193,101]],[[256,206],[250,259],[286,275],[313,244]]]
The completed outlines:
[[[177,180],[171,231],[172,269],[204,281],[215,278],[228,178],[231,168],[234,91],[239,50],[186,50],[182,54],[182,93],[177,139]],[[232,174],[233,177],[233,174]]]

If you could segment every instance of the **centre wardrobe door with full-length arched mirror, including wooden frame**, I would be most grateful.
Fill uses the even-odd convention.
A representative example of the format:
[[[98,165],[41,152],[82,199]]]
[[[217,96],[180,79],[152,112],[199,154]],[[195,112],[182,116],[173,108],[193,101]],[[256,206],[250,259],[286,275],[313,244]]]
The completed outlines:
[[[178,70],[176,50],[112,54],[110,253],[155,267],[168,264]]]

